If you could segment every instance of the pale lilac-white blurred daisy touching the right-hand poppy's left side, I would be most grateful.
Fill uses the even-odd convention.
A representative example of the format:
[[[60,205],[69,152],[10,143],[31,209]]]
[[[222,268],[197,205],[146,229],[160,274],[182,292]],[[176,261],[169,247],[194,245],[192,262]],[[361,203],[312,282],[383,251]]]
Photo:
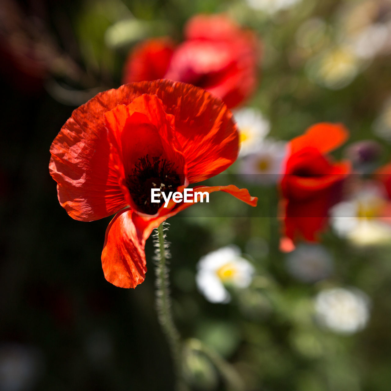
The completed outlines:
[[[276,183],[283,172],[286,154],[286,142],[264,140],[257,151],[243,158],[239,172],[250,182],[264,185]]]

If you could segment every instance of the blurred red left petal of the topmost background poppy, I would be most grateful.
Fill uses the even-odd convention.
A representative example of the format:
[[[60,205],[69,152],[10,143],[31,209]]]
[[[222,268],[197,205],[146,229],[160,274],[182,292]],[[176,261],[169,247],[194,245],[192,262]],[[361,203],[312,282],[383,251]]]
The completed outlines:
[[[123,83],[162,79],[167,72],[174,42],[168,38],[148,39],[132,50],[123,71]]]

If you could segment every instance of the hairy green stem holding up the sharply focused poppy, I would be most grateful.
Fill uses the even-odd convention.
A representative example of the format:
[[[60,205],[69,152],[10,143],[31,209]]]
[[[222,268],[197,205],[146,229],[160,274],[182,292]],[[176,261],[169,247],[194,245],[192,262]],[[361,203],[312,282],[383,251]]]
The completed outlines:
[[[155,234],[155,260],[156,260],[156,309],[160,326],[167,337],[172,359],[174,361],[174,370],[177,375],[176,389],[178,391],[188,391],[188,387],[183,380],[182,370],[182,343],[179,332],[174,324],[171,308],[171,298],[169,289],[169,269],[167,259],[170,258],[169,242],[165,240],[165,231],[169,224],[163,222],[157,228]]]

